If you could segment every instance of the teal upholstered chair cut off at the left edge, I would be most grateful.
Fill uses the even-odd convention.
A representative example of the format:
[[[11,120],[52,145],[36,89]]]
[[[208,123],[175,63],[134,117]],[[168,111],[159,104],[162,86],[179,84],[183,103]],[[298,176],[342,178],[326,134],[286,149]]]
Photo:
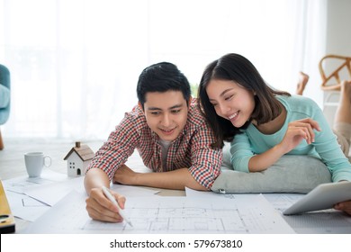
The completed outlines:
[[[0,65],[0,125],[3,125],[10,116],[10,71],[7,67]],[[0,129],[0,150],[4,148]]]

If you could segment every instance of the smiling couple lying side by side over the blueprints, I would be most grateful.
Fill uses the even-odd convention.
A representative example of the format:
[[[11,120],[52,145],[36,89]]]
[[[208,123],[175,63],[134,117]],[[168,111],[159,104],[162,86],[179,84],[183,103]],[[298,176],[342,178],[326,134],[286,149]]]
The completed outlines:
[[[306,83],[302,78],[302,90]],[[351,82],[342,86],[336,130],[349,134],[339,135],[347,146]],[[126,114],[87,168],[86,210],[94,220],[122,220],[103,194],[102,186],[109,187],[111,181],[209,190],[220,175],[223,140],[231,142],[236,170],[262,171],[285,154],[311,155],[329,167],[334,182],[351,181],[351,165],[318,105],[301,95],[272,89],[238,54],[225,55],[206,67],[199,103],[191,98],[186,77],[166,62],[142,71],[137,94],[138,106]],[[139,174],[125,166],[135,148],[155,173]],[[124,208],[125,198],[111,193]],[[351,214],[351,201],[335,208]]]

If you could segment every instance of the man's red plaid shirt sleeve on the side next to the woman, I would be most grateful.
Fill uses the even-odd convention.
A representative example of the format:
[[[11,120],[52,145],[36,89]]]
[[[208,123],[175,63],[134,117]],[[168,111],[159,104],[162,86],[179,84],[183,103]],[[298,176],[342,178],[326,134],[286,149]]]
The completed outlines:
[[[211,148],[214,136],[210,127],[203,125],[193,132],[190,142],[192,149],[192,166],[189,172],[193,178],[202,186],[211,189],[214,180],[220,175],[222,163],[222,150]]]

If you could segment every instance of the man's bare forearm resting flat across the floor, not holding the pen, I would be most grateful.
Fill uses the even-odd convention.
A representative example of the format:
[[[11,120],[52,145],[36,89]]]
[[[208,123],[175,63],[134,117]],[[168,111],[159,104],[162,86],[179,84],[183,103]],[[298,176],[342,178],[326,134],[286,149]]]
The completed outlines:
[[[199,191],[208,190],[193,178],[187,168],[162,173],[136,173],[128,166],[121,166],[115,172],[113,182],[176,190],[184,190],[185,186]]]

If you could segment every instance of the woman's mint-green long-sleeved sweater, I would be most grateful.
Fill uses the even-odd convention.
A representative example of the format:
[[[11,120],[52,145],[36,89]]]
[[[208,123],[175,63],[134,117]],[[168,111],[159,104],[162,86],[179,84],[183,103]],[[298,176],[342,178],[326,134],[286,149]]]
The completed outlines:
[[[293,97],[291,99],[293,99]],[[289,121],[310,117],[311,119],[318,121],[321,131],[315,130],[315,141],[311,145],[302,141],[297,148],[294,148],[287,154],[319,157],[329,168],[332,181],[351,181],[351,164],[338,145],[338,139],[333,133],[333,130],[329,127],[329,123],[319,105],[306,97],[303,97],[303,99],[294,99],[293,101],[290,101],[289,104],[292,107],[291,110],[289,108]],[[265,141],[262,142],[258,135],[251,132],[249,136],[250,138],[253,138],[255,143],[251,142],[247,133],[247,130],[245,130],[244,133],[238,134],[230,144],[231,165],[234,169],[243,172],[249,172],[248,162],[251,157],[257,153],[262,153],[266,151],[267,148],[270,148],[270,146],[277,144],[284,138],[285,131],[283,130],[280,132],[279,134],[281,135],[279,136],[275,135],[275,137],[266,137]],[[267,145],[268,142],[270,144]],[[253,145],[255,145],[255,148]]]

